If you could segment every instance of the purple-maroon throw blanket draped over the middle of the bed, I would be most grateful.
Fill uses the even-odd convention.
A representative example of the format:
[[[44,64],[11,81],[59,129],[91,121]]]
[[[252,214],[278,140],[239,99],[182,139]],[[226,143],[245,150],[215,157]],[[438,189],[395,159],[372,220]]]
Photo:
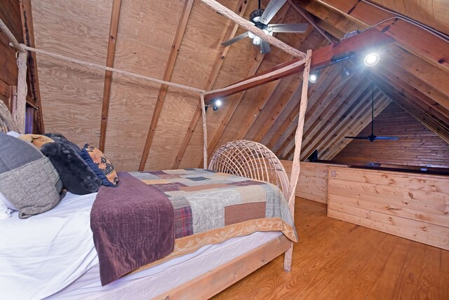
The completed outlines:
[[[170,200],[128,173],[119,186],[101,186],[91,211],[102,285],[166,257],[175,245]]]

